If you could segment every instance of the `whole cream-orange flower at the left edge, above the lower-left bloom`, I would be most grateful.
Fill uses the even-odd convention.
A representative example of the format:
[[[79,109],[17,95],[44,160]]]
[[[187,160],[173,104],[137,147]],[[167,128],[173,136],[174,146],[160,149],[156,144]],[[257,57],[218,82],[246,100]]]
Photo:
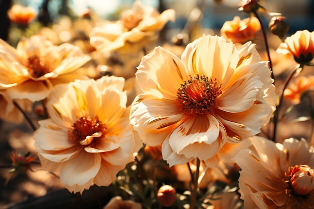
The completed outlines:
[[[0,39],[0,88],[12,99],[45,99],[53,86],[88,79],[75,71],[90,60],[71,44],[53,46],[41,36],[23,38],[17,49]]]

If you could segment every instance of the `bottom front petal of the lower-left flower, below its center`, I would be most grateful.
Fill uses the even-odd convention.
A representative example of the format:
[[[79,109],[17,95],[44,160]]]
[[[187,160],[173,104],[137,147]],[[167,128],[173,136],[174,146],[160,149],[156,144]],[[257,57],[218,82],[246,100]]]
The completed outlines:
[[[88,153],[81,150],[75,157],[63,163],[60,170],[60,179],[63,184],[73,186],[84,185],[93,179],[101,165],[100,154]]]

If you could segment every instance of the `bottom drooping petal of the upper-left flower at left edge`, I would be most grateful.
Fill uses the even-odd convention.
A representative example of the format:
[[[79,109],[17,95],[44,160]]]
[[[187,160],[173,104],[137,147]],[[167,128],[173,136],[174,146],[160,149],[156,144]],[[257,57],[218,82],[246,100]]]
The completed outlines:
[[[45,99],[52,88],[49,82],[28,80],[8,89],[12,99],[29,99],[32,102]]]

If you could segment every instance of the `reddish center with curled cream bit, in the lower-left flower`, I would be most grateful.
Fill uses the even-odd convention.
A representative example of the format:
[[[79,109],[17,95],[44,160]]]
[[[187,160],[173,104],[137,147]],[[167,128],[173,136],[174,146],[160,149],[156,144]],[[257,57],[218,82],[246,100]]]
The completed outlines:
[[[73,130],[68,131],[68,139],[89,145],[94,138],[105,135],[106,127],[98,117],[85,116],[78,119],[73,125]]]

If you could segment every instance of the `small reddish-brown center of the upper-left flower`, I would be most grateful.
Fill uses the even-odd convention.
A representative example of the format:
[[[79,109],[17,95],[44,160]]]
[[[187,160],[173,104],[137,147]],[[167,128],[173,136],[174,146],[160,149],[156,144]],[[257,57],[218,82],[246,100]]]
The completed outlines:
[[[45,61],[45,58],[37,55],[28,58],[28,68],[34,78],[39,78],[51,72],[51,66]]]

